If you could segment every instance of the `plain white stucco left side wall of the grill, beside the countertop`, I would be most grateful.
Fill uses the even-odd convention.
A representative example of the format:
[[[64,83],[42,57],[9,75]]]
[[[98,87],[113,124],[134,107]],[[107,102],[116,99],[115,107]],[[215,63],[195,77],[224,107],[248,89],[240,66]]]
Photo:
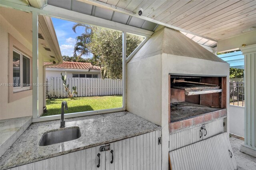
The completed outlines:
[[[161,126],[161,55],[129,62],[126,67],[127,111]]]

